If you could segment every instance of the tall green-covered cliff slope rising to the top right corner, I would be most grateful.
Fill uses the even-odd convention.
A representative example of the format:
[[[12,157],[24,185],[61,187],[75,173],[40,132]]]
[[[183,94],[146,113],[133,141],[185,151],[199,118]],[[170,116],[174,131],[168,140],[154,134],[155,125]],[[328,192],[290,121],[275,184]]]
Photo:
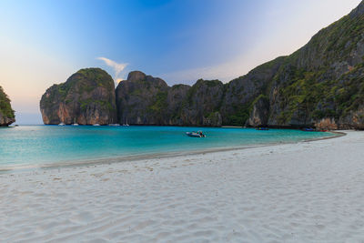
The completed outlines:
[[[364,128],[364,2],[290,56],[227,84],[224,124]],[[258,96],[267,99],[259,101]]]

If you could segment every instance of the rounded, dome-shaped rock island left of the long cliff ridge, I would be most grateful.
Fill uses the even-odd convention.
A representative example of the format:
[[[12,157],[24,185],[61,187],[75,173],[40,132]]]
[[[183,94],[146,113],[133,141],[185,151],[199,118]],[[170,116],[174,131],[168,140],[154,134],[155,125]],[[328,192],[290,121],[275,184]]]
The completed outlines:
[[[116,123],[115,85],[100,68],[81,69],[66,83],[48,88],[40,101],[45,124]]]

